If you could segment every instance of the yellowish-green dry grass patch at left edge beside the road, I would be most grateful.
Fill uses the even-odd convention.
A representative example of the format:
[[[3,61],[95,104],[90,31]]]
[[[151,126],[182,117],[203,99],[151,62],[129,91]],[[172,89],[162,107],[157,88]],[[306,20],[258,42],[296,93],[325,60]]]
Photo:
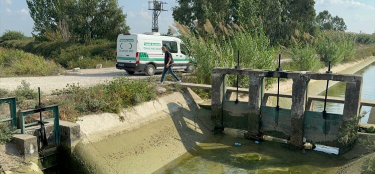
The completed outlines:
[[[18,49],[0,47],[0,77],[57,75],[63,69],[57,63]]]

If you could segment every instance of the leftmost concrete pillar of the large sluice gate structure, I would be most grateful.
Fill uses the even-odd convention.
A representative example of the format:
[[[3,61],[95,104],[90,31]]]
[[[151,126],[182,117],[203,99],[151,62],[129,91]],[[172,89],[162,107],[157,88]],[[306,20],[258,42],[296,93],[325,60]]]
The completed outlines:
[[[212,73],[211,119],[216,130],[223,130],[223,96],[227,91],[225,74]]]

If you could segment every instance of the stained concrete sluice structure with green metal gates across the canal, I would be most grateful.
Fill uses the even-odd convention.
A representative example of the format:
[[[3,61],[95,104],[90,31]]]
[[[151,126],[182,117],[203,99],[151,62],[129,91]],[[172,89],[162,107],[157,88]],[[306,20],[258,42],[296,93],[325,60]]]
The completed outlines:
[[[345,125],[346,121],[355,115],[358,115],[360,106],[360,94],[362,86],[362,76],[356,74],[337,74],[337,73],[316,73],[306,71],[273,71],[273,70],[260,70],[260,69],[235,69],[235,68],[214,68],[212,69],[212,119],[217,126],[229,127],[243,127],[245,117],[242,112],[238,116],[238,111],[243,110],[243,104],[232,105],[228,109],[226,102],[223,102],[224,92],[226,92],[225,78],[226,74],[247,75],[249,76],[249,114],[248,114],[248,132],[247,137],[257,138],[263,133],[270,133],[276,137],[288,138],[290,136],[291,144],[294,146],[303,146],[303,137],[307,136],[311,139],[321,142],[324,145],[338,145],[337,138],[340,136],[339,130]],[[262,89],[264,84],[264,77],[282,77],[293,79],[292,90],[292,105],[290,109],[290,124],[278,126],[278,122],[285,122],[280,120],[280,117],[275,115],[264,115],[261,112],[260,102],[263,97],[264,91]],[[314,119],[309,118],[311,122],[305,121],[305,104],[307,93],[307,82],[309,80],[335,80],[346,82],[346,94],[344,102],[344,112],[339,116],[340,120],[329,120],[326,115],[321,115],[318,112],[311,112],[315,115]],[[264,103],[266,104],[266,103]],[[311,106],[311,103],[308,103]],[[226,106],[223,109],[223,105]],[[270,114],[269,112],[268,114]],[[278,113],[277,111],[274,113]],[[224,115],[224,116],[223,116]],[[264,117],[274,117],[274,122],[270,119],[261,121],[262,115]],[[319,117],[320,115],[320,117]],[[223,121],[221,123],[220,121]],[[336,116],[337,117],[337,116]],[[286,119],[289,117],[284,117]],[[226,120],[227,119],[227,120]],[[316,120],[317,119],[317,120]],[[225,124],[230,122],[230,124]],[[267,124],[267,125],[264,125]],[[271,125],[268,125],[271,124]],[[273,129],[270,126],[275,125]],[[308,127],[306,127],[308,126]],[[224,128],[220,127],[220,128]],[[305,129],[308,129],[305,132]],[[332,129],[331,129],[332,128]],[[314,130],[315,129],[315,130]],[[313,133],[313,134],[312,134]],[[327,136],[329,138],[327,138]],[[315,142],[316,142],[315,141]]]

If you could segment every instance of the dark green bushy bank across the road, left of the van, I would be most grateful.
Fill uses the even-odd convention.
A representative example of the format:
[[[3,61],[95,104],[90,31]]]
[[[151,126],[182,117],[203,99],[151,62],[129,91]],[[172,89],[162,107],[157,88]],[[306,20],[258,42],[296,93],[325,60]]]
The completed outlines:
[[[6,48],[22,49],[37,55],[51,59],[65,68],[95,68],[97,64],[103,67],[113,67],[116,62],[116,42],[105,39],[97,39],[89,44],[77,42],[6,40],[0,43]],[[79,57],[83,57],[80,59]]]

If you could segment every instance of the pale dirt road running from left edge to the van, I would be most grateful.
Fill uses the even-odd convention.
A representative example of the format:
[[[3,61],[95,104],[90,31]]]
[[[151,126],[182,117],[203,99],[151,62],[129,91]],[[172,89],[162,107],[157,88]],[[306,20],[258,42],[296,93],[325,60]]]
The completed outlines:
[[[161,71],[154,76],[160,77]],[[80,83],[82,86],[91,86],[113,79],[115,76],[126,76],[129,78],[148,78],[143,72],[136,72],[129,75],[125,70],[107,67],[100,69],[81,69],[78,71],[67,70],[65,75],[57,76],[33,76],[33,77],[6,77],[0,78],[0,88],[9,90],[16,89],[21,85],[22,80],[29,82],[32,88],[41,87],[44,93],[51,93],[52,90],[62,89],[67,84]]]

